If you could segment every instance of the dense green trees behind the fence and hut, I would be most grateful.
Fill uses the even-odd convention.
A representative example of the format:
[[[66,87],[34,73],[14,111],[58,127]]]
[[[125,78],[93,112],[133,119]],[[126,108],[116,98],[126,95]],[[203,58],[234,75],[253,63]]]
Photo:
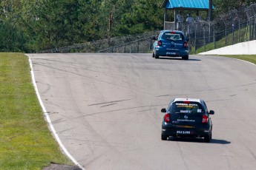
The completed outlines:
[[[252,2],[256,0],[213,0],[214,16]],[[0,50],[36,52],[162,30],[162,3],[163,0],[2,0]]]

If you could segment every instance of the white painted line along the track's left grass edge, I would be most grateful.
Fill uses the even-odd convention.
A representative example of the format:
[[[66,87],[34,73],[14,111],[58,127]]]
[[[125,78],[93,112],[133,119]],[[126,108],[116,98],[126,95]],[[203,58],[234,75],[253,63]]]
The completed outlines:
[[[54,129],[53,127],[53,123],[51,123],[51,120],[50,120],[50,117],[47,113],[47,110],[45,109],[45,106],[44,106],[44,103],[42,103],[42,99],[39,95],[39,91],[37,89],[37,86],[36,86],[36,80],[35,80],[35,75],[34,75],[34,72],[33,72],[33,65],[32,65],[32,61],[30,59],[30,57],[28,57],[29,59],[29,63],[30,63],[30,73],[31,73],[31,77],[32,77],[32,81],[33,81],[33,86],[34,86],[34,89],[36,90],[36,95],[37,95],[37,98],[39,99],[39,103],[43,109],[43,112],[44,112],[44,115],[45,115],[45,118],[47,120],[47,123],[48,125],[50,126],[50,131],[53,133],[54,137],[56,138],[57,142],[59,143],[59,146],[62,148],[63,152],[65,152],[65,154],[67,154],[67,156],[70,158],[70,160],[73,161],[73,163],[76,165],[76,166],[79,166],[80,169],[82,170],[85,170],[85,168],[83,168],[76,160],[75,158],[72,157],[72,155],[68,152],[68,150],[65,148],[65,146],[62,144],[62,141],[59,139],[59,135],[57,134],[56,130]]]

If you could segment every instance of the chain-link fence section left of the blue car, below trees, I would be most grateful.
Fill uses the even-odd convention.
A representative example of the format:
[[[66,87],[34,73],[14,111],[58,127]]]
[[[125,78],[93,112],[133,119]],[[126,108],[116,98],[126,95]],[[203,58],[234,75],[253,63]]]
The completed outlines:
[[[137,35],[125,35],[122,37],[105,38],[84,44],[74,44],[68,47],[60,47],[50,50],[42,50],[39,53],[63,53],[63,52],[116,52],[116,53],[140,53],[148,52],[152,47],[151,37],[159,31],[152,31]]]

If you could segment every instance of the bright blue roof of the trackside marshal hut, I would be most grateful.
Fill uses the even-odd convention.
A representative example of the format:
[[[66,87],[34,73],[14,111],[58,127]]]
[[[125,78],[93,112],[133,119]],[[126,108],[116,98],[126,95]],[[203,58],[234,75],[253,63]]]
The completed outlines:
[[[165,9],[209,10],[209,0],[164,0],[161,7]]]

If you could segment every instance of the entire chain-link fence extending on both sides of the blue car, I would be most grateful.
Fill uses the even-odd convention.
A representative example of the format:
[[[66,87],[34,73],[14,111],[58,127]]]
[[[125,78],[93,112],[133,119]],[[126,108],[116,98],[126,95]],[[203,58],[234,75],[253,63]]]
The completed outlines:
[[[213,21],[193,21],[181,28],[189,38],[190,53],[195,54],[256,39],[256,4],[214,18]],[[138,35],[102,39],[85,44],[76,44],[40,52],[117,52],[145,53],[151,52],[153,41],[160,31]]]

